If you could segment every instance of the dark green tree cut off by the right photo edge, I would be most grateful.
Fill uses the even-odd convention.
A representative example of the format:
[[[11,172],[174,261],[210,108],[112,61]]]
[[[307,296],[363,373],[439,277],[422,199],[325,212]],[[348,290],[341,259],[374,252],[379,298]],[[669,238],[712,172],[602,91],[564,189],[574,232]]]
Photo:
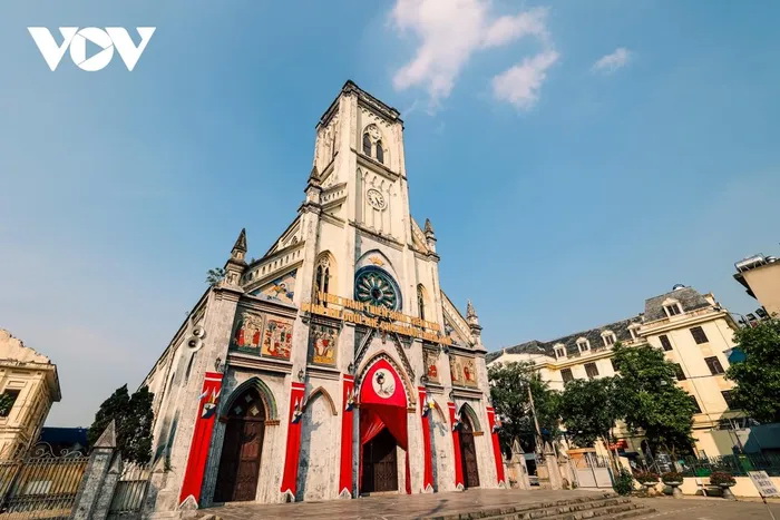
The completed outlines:
[[[780,320],[740,328],[734,341],[745,354],[725,372],[737,383],[734,405],[757,421],[780,422]]]

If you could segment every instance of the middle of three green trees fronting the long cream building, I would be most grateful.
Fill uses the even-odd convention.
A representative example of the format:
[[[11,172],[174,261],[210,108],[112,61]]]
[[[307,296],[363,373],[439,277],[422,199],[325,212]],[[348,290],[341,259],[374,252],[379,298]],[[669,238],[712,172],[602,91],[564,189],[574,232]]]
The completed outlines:
[[[566,383],[560,395],[560,420],[577,445],[591,447],[599,438],[607,443],[612,440],[611,431],[624,414],[615,383],[613,377]]]

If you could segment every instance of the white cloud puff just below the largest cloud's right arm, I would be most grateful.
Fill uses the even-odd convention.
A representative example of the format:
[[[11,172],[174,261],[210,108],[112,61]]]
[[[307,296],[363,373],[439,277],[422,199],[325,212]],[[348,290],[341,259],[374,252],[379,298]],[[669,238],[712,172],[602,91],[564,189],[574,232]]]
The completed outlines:
[[[496,99],[508,101],[515,107],[527,110],[539,99],[539,89],[547,78],[547,69],[559,58],[554,50],[545,50],[526,58],[521,63],[493,78],[493,94]]]

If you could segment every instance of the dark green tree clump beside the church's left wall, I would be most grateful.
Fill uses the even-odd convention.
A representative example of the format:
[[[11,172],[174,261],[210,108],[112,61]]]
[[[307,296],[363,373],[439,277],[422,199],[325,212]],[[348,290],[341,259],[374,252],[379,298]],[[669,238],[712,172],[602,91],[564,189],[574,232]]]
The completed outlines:
[[[146,463],[152,460],[152,401],[154,394],[143,386],[131,396],[127,385],[118,387],[100,404],[87,432],[92,445],[111,421],[116,421],[117,448],[126,460]]]

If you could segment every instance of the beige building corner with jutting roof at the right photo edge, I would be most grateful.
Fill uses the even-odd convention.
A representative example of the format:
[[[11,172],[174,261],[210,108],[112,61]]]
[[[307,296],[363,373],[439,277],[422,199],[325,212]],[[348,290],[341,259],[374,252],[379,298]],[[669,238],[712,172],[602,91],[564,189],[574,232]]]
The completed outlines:
[[[753,255],[734,264],[734,279],[759,301],[763,308],[748,320],[760,321],[767,315],[780,317],[780,262],[774,256]],[[758,316],[757,316],[758,315]]]

